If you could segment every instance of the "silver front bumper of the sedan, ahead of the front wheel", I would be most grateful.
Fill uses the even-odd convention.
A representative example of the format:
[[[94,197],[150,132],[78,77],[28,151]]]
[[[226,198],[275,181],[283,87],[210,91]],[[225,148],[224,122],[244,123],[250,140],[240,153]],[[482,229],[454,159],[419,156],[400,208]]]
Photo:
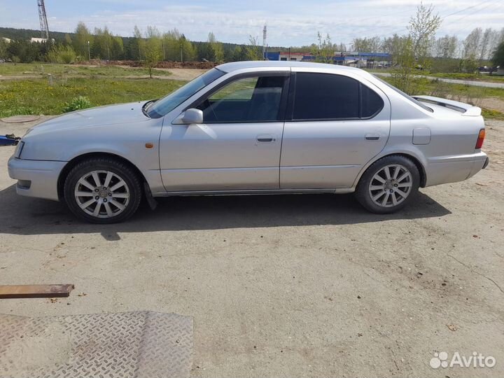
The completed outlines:
[[[16,193],[27,197],[59,200],[57,181],[66,162],[48,160],[8,160],[8,174],[11,179],[18,180]]]

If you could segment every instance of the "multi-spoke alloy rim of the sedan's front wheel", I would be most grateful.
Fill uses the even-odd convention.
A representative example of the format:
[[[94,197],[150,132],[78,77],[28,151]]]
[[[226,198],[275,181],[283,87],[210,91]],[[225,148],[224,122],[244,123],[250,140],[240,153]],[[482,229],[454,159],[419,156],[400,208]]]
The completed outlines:
[[[118,174],[92,171],[78,179],[73,195],[78,207],[96,218],[112,218],[125,211],[130,188]]]

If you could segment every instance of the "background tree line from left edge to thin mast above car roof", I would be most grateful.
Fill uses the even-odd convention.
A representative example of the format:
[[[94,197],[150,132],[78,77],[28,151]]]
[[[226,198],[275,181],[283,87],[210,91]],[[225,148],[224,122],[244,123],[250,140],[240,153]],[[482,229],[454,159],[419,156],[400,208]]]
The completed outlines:
[[[114,35],[108,27],[90,30],[79,22],[71,34],[51,32],[53,42],[31,43],[36,31],[0,28],[0,58],[14,62],[62,61],[66,63],[89,59],[166,60],[172,62],[230,62],[262,59],[257,38],[250,37],[242,45],[221,43],[210,32],[207,41],[190,41],[177,29],[161,33],[156,27],[141,31],[134,27],[132,37]]]

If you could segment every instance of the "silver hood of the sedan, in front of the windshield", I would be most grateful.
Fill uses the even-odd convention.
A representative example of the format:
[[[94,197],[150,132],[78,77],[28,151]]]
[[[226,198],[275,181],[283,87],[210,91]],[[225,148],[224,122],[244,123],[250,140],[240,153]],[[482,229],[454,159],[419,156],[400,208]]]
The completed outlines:
[[[29,133],[38,134],[83,127],[139,123],[151,119],[142,112],[144,104],[145,102],[130,102],[73,111],[38,124],[29,130]]]

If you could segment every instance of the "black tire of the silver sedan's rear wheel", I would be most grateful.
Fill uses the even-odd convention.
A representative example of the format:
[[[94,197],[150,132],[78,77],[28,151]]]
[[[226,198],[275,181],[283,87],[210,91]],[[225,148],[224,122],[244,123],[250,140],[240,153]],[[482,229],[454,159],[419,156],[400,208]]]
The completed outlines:
[[[402,168],[391,167],[393,165],[398,165]],[[387,167],[389,166],[389,167]],[[382,171],[383,169],[383,171]],[[393,176],[395,173],[395,169],[399,169],[398,175],[402,176],[405,173],[406,169],[410,176],[407,176],[406,179],[408,181],[402,181],[398,183],[397,180],[387,179],[385,176],[385,169],[388,170],[388,173]],[[374,179],[375,175],[379,174],[381,179],[384,179],[385,183],[383,183],[383,189],[372,190],[371,184],[373,184],[372,188],[377,188],[377,186],[381,185],[381,181]],[[400,179],[400,176],[397,179]],[[409,187],[405,187],[405,185],[410,185]],[[400,186],[400,188],[398,188]],[[402,209],[407,206],[409,202],[414,200],[414,197],[418,193],[418,188],[420,186],[420,173],[419,169],[416,167],[414,162],[406,158],[402,155],[390,155],[385,158],[381,158],[374,162],[369,168],[366,169],[363,176],[360,177],[360,181],[356,190],[356,199],[358,202],[367,210],[376,214],[389,214],[395,211]],[[407,193],[407,196],[404,198],[400,193],[396,192],[396,190],[401,190],[402,193]],[[378,197],[381,194],[381,190],[383,190],[384,194],[381,197]],[[393,198],[395,202],[400,202],[397,204],[393,204]],[[381,204],[377,204],[373,197],[378,202],[385,202],[385,206]]]

